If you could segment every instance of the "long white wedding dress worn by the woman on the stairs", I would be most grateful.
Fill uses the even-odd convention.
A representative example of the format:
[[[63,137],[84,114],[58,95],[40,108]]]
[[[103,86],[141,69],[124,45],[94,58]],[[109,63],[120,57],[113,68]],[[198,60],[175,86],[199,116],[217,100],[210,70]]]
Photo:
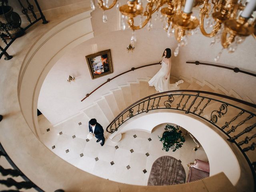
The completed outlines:
[[[162,60],[162,66],[160,70],[155,74],[152,79],[148,82],[149,86],[155,86],[158,92],[170,91],[170,90],[178,90],[180,87],[178,84],[183,83],[183,80],[179,80],[174,84],[170,84],[170,76],[165,79],[166,71],[168,70],[168,65]]]

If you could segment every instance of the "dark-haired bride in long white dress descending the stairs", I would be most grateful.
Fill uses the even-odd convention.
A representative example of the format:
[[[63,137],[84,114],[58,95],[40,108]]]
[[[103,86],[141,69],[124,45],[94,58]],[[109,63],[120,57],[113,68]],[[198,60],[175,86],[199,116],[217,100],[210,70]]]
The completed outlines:
[[[150,86],[155,86],[158,92],[164,92],[169,90],[179,89],[178,84],[183,83],[183,80],[179,80],[174,84],[170,84],[170,71],[171,71],[171,50],[166,48],[163,54],[162,67],[155,74],[154,77],[148,82]]]

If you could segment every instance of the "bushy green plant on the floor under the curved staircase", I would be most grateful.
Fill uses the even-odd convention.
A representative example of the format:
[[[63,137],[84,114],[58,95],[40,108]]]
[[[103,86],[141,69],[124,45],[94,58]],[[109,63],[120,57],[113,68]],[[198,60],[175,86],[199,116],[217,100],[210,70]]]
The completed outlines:
[[[179,129],[177,125],[176,128],[172,125],[166,125],[166,131],[162,134],[160,141],[163,143],[162,150],[166,152],[171,148],[172,151],[176,151],[178,148],[181,148],[183,143],[185,142],[184,136],[182,136],[182,131]]]

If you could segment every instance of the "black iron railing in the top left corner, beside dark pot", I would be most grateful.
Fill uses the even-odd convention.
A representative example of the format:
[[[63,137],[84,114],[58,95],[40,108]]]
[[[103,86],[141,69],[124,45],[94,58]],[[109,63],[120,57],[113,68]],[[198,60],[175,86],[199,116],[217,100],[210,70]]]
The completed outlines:
[[[18,37],[22,36],[24,32],[30,28],[30,26],[40,20],[43,21],[43,24],[48,23],[37,0],[34,0],[37,10],[34,10],[34,6],[29,0],[26,0],[26,4],[23,4],[21,0],[18,0],[17,2],[20,5],[22,13],[26,16],[26,19],[30,24],[22,28],[20,16],[15,12],[15,10],[13,10],[11,6],[8,5],[7,0],[0,0],[0,38],[5,45],[4,48],[0,46],[0,59],[3,55],[5,56],[5,60],[12,58],[12,56],[6,52],[7,49]],[[36,15],[36,11],[38,11],[40,14],[39,18]]]

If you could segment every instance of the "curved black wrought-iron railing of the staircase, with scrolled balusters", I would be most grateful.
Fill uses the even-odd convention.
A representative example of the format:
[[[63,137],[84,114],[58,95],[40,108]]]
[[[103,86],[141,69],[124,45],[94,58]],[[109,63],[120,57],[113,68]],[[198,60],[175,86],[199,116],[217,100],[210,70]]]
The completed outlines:
[[[230,96],[197,90],[173,90],[147,96],[123,110],[107,126],[114,133],[132,117],[150,110],[171,109],[184,111],[210,122],[236,144],[246,158],[256,183],[256,104]],[[254,141],[253,141],[254,139]]]

